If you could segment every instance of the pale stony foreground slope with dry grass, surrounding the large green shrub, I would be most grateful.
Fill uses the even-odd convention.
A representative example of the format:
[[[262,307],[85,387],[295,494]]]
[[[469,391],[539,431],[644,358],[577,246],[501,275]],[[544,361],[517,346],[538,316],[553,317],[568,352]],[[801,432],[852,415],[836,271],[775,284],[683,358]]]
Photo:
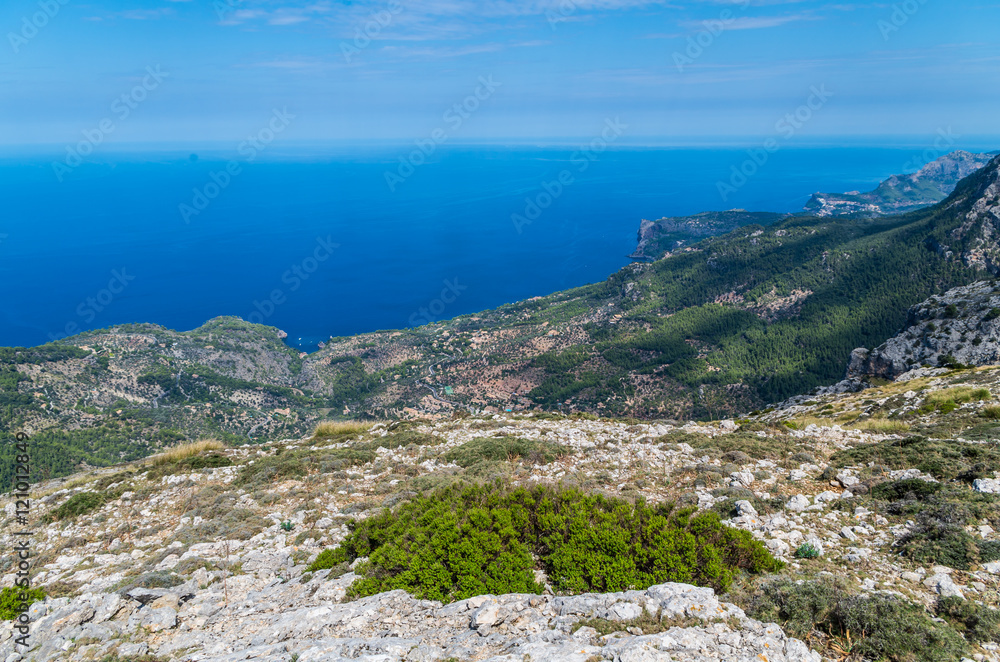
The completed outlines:
[[[30,648],[15,647],[10,622],[0,626],[0,657],[877,659],[857,652],[864,632],[802,628],[785,612],[775,619],[781,625],[768,624],[764,616],[774,612],[762,609],[760,589],[836,579],[844,595],[892,596],[921,614],[945,598],[993,614],[1000,600],[1000,555],[991,551],[1000,549],[998,401],[1000,369],[934,369],[860,393],[798,398],[739,421],[495,414],[344,424],[333,436],[203,444],[48,481],[33,489],[32,513],[34,584],[48,597],[30,609]],[[563,451],[555,459],[455,460],[484,438]],[[314,462],[303,466],[303,458]],[[549,588],[447,605],[402,591],[348,600],[356,563],[308,571],[352,521],[458,481],[494,479],[712,509],[787,565],[777,576],[745,576],[723,596],[664,584],[578,596]],[[941,508],[966,519],[927,538]],[[7,549],[14,510],[9,503]],[[958,552],[942,546],[948,536],[960,541]],[[921,556],[927,548],[943,549],[950,565]],[[12,560],[4,564],[9,586]],[[984,638],[993,630],[926,619],[965,637],[958,657],[1000,659],[995,639]]]

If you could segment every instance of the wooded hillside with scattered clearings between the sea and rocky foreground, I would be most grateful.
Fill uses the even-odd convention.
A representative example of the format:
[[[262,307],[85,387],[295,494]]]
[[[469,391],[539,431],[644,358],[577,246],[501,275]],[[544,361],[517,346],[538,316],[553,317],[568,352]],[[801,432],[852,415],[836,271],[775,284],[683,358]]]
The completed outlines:
[[[3,431],[47,464],[108,464],[181,438],[262,442],[330,416],[548,410],[719,418],[831,384],[910,306],[996,275],[1000,158],[944,202],[875,219],[793,217],[706,239],[594,285],[299,355],[220,318],[132,325],[0,353]]]

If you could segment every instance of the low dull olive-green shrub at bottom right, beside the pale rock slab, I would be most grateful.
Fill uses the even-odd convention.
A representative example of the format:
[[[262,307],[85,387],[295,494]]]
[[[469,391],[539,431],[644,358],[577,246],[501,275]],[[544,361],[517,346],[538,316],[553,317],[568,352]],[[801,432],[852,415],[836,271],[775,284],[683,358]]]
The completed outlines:
[[[851,595],[842,580],[779,579],[743,602],[749,616],[779,623],[793,637],[818,630],[846,645],[849,633],[850,659],[954,662],[966,652],[962,638],[921,607],[896,596]]]

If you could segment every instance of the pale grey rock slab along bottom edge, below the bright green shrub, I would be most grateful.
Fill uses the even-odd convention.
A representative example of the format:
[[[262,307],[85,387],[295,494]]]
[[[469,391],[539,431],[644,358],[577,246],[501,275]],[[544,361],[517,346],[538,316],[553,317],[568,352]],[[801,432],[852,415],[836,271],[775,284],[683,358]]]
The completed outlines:
[[[662,584],[568,597],[482,595],[450,605],[393,591],[337,602],[354,575],[326,581],[327,572],[255,591],[231,580],[228,600],[220,581],[204,590],[195,581],[162,590],[150,603],[116,593],[49,600],[31,608],[32,648],[14,651],[5,636],[0,657],[20,653],[42,662],[155,652],[200,662],[821,659],[777,625],[719,602],[709,588]],[[644,615],[666,619],[664,631],[647,634],[631,625]],[[580,626],[590,619],[621,623],[622,630],[600,636]]]

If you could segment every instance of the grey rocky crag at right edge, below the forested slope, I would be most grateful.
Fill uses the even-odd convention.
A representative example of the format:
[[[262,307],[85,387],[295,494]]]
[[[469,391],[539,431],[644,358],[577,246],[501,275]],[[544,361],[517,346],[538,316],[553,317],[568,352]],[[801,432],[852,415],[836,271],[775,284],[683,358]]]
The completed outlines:
[[[992,212],[990,212],[992,213]],[[879,347],[851,352],[849,378],[896,379],[924,366],[1000,363],[1000,287],[956,287],[910,309],[905,328]]]

